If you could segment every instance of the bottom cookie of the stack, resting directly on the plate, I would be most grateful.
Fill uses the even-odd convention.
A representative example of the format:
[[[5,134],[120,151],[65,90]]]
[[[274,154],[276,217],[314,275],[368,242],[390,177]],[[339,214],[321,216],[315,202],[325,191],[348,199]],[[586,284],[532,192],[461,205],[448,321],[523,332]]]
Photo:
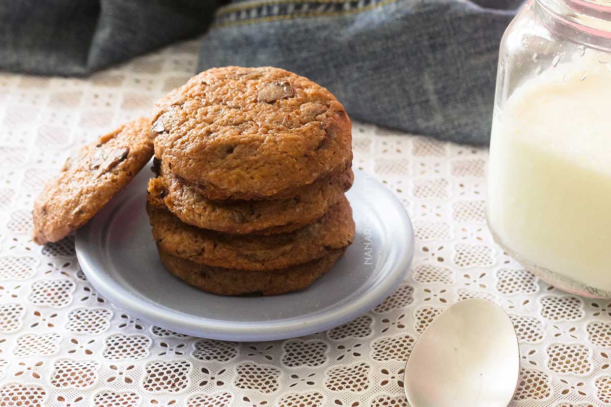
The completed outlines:
[[[220,295],[278,295],[308,287],[330,270],[343,252],[344,249],[336,249],[304,264],[263,272],[197,264],[162,249],[159,249],[159,259],[170,273],[200,290]]]

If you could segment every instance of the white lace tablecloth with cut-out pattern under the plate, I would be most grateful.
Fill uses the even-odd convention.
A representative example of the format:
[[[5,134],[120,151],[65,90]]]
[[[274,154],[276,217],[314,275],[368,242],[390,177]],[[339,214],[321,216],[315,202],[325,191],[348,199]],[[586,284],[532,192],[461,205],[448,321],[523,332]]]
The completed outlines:
[[[373,311],[307,337],[232,343],[149,325],[87,283],[73,238],[32,243],[32,202],[68,149],[148,115],[194,74],[196,51],[181,43],[89,79],[0,74],[0,406],[406,406],[415,340],[473,297],[518,331],[513,405],[611,405],[611,301],[564,294],[492,242],[486,149],[354,124],[354,166],[412,217],[414,265]]]

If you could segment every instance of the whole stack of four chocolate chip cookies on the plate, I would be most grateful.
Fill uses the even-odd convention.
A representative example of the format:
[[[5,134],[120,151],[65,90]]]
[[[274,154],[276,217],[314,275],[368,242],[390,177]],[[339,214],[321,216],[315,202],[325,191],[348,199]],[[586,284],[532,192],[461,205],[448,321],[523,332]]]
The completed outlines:
[[[169,272],[222,295],[303,289],[354,239],[351,124],[277,68],[204,71],[156,104],[147,212]]]

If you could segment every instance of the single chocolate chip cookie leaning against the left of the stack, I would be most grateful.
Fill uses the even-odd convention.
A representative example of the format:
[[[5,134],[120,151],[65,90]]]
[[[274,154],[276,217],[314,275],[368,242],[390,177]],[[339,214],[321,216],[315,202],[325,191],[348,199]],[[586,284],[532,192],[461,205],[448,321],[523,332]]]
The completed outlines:
[[[57,242],[87,223],[152,155],[150,122],[145,118],[79,149],[34,202],[34,242]]]

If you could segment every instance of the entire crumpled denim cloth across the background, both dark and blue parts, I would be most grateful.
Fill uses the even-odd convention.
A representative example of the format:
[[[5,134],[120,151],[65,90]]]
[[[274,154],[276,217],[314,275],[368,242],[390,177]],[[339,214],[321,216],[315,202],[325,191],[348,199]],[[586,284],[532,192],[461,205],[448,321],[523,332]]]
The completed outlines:
[[[0,0],[0,68],[86,75],[206,32],[200,70],[273,65],[361,121],[487,143],[499,41],[520,0]],[[210,25],[211,22],[211,25]]]

